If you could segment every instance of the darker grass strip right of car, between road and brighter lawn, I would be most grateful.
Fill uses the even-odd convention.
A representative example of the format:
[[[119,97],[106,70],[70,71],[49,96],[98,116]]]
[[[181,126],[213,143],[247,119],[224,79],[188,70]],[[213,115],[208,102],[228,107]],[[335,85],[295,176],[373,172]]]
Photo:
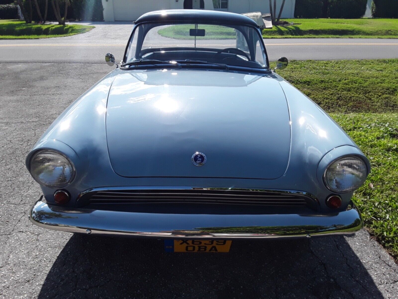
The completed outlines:
[[[398,112],[398,59],[291,61],[278,73],[328,112]]]

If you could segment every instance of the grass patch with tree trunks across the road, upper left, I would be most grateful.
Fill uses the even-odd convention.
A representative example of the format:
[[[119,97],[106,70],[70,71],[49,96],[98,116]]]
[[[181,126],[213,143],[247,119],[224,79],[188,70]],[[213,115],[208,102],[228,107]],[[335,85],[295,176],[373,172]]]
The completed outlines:
[[[0,39],[35,39],[69,36],[90,31],[94,26],[26,24],[21,20],[0,20]]]

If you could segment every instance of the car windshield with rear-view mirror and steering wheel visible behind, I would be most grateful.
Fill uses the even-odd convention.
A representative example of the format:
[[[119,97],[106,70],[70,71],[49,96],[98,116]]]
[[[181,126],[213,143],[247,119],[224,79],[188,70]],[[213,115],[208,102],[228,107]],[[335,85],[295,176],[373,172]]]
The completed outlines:
[[[165,61],[184,64],[268,69],[257,28],[238,25],[146,23],[130,37],[123,63]]]

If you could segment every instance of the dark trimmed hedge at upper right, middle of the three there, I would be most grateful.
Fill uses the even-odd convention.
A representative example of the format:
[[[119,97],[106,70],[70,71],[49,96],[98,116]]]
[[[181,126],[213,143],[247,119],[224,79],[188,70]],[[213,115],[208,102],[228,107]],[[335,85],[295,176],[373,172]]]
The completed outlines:
[[[365,14],[366,4],[367,0],[329,0],[328,17],[332,19],[361,18]]]

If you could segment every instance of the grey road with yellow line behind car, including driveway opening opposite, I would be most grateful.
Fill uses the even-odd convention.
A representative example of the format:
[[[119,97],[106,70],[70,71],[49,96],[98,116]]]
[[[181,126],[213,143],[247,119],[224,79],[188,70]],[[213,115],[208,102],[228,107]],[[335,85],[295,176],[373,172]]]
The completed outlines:
[[[102,63],[111,52],[120,61],[129,39],[131,22],[97,22],[96,28],[69,37],[0,40],[2,62]],[[398,58],[398,39],[265,39],[271,61],[288,59]],[[168,39],[168,43],[180,43]],[[218,41],[207,40],[207,43]],[[226,43],[230,43],[225,40]]]

